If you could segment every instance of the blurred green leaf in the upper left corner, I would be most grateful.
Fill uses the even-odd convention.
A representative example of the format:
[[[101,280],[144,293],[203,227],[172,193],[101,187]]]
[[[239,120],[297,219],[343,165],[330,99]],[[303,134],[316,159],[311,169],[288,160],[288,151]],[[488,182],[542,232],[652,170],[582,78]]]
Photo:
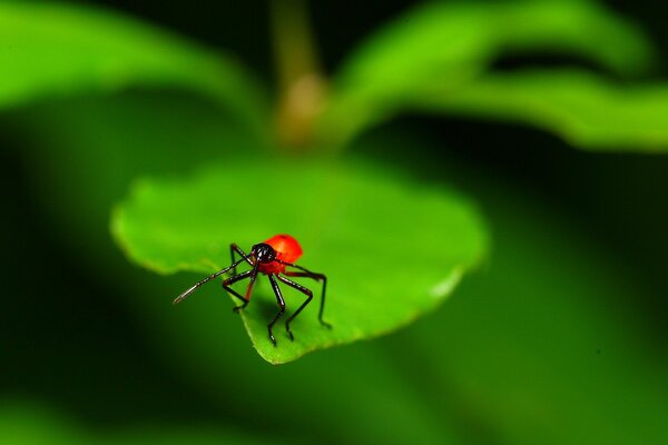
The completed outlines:
[[[266,121],[259,89],[229,56],[111,11],[0,3],[0,108],[132,86],[184,88]]]

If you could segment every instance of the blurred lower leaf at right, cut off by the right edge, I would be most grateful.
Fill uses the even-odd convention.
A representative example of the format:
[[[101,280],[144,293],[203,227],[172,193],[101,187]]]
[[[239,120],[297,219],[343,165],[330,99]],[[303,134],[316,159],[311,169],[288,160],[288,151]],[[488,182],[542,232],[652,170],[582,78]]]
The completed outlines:
[[[668,150],[668,83],[625,86],[582,71],[483,76],[456,91],[426,91],[430,111],[525,122],[574,146]]]

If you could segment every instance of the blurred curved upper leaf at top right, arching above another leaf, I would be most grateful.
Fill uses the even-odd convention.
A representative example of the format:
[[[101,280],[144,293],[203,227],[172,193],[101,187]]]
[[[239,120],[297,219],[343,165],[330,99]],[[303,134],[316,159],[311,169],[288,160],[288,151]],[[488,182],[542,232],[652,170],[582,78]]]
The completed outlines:
[[[501,55],[527,51],[576,55],[621,75],[646,71],[655,57],[635,26],[593,2],[426,3],[343,66],[322,137],[342,144],[394,115],[424,85],[455,91]]]

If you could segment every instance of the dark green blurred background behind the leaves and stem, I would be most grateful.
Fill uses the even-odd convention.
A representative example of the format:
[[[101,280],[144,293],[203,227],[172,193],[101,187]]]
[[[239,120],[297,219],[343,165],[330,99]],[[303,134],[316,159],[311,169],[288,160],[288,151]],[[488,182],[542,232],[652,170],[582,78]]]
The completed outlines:
[[[224,49],[274,83],[264,1],[91,3]],[[325,72],[412,4],[312,2]],[[605,4],[656,42],[660,60],[645,80],[666,79],[666,7]],[[583,63],[495,63],[569,62]],[[134,178],[184,175],[224,157],[220,147],[255,144],[245,131],[168,89],[0,112],[1,443],[668,441],[667,157],[419,113],[365,132],[352,149],[475,201],[492,253],[414,325],[275,367],[223,299],[207,306],[220,313],[217,330],[178,330],[170,300],[196,276],[129,264],[108,230]]]

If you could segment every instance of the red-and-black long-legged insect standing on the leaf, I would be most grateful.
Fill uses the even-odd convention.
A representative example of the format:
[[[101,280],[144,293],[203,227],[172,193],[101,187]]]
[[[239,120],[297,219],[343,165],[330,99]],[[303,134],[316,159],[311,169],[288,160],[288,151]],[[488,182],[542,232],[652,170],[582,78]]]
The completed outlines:
[[[278,304],[278,314],[269,322],[267,325],[267,329],[269,332],[269,339],[276,346],[276,338],[274,337],[274,325],[283,316],[285,313],[285,300],[283,299],[283,294],[281,293],[281,288],[278,287],[278,283],[284,283],[287,286],[297,289],[302,294],[306,295],[306,300],[302,303],[302,306],[298,307],[297,310],[293,315],[291,315],[287,320],[285,320],[285,329],[287,330],[287,335],[291,340],[294,340],[295,337],[289,328],[289,324],[295,319],[297,315],[311,303],[313,299],[313,291],[308,288],[286,278],[286,277],[306,277],[313,278],[317,281],[323,283],[323,291],[321,294],[321,307],[318,313],[320,323],[331,328],[332,325],[323,320],[323,310],[325,309],[325,290],[327,288],[327,277],[323,274],[317,274],[311,271],[302,266],[297,266],[294,264],[302,256],[302,247],[297,243],[295,238],[289,235],[276,235],[272,238],[267,239],[264,243],[256,244],[250,248],[250,254],[246,255],[244,250],[239,248],[236,244],[229,245],[229,253],[232,256],[232,265],[218,270],[217,273],[204,278],[202,281],[196,283],[194,286],[188,288],[181,295],[174,299],[174,304],[179,304],[185,298],[187,298],[190,294],[193,294],[199,286],[205,283],[216,278],[219,275],[223,275],[229,270],[232,270],[232,276],[225,278],[223,280],[223,288],[235,297],[239,298],[243,304],[236,306],[234,308],[235,312],[239,312],[244,309],[248,301],[250,301],[250,294],[253,293],[253,285],[255,284],[255,279],[258,274],[264,274],[269,279],[272,285],[272,289],[274,290],[274,295],[276,296],[276,303]],[[236,259],[235,254],[239,255],[242,258]],[[236,267],[242,264],[247,263],[253,268],[250,270],[243,271],[240,274],[236,273]],[[295,268],[297,270],[286,270],[286,267]],[[249,278],[248,287],[246,288],[246,293],[240,295],[236,290],[234,290],[230,286],[243,279]]]

